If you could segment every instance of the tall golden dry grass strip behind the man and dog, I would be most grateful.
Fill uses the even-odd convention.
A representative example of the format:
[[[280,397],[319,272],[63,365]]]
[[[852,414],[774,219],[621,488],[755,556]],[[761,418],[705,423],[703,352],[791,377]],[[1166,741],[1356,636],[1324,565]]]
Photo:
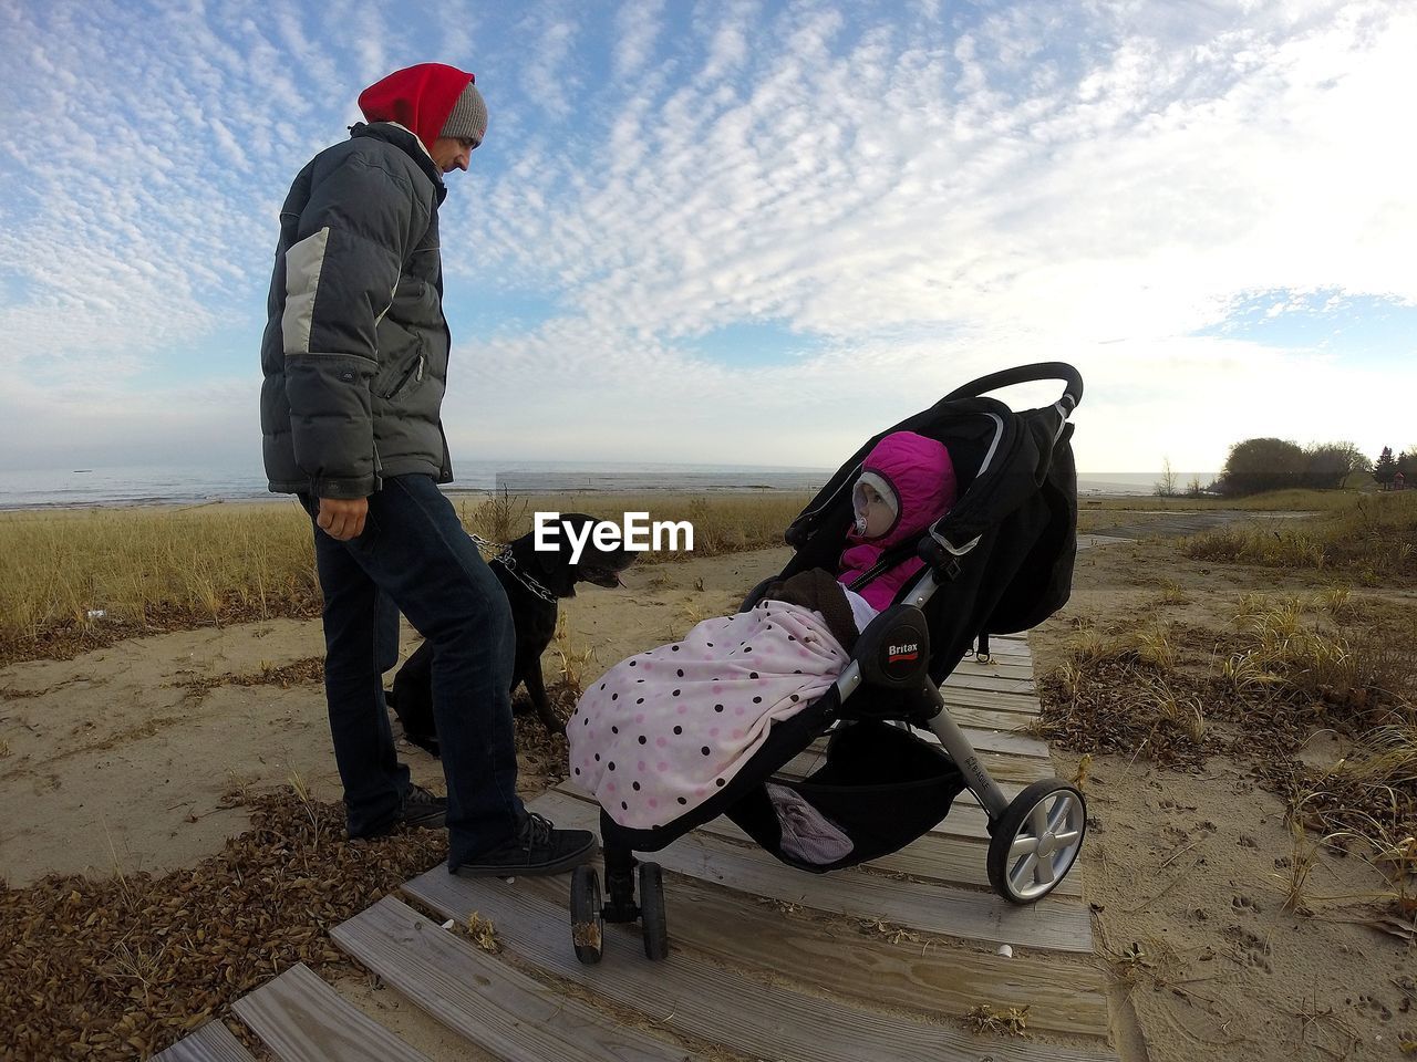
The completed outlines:
[[[694,555],[779,545],[806,501],[792,493],[458,496],[463,525],[492,542],[538,511],[621,523],[690,521]],[[0,514],[0,663],[72,654],[152,630],[319,615],[309,520],[293,503]],[[656,564],[680,552],[646,551]]]

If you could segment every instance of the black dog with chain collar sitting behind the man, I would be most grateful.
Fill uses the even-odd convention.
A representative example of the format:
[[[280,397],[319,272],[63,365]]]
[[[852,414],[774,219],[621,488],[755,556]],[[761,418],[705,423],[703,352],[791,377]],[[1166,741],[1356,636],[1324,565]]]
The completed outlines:
[[[557,534],[548,535],[555,549],[537,549],[536,532],[513,541],[489,564],[507,592],[512,620],[517,633],[516,664],[512,670],[512,690],[526,683],[531,708],[547,731],[560,733],[563,724],[551,708],[541,678],[541,654],[555,637],[557,602],[575,596],[577,582],[597,586],[619,586],[619,573],[629,568],[635,554],[628,549],[598,549],[594,537],[584,539],[578,564],[571,564],[572,547],[565,528],[574,528],[581,539],[587,524],[598,524],[585,513],[563,513]],[[394,674],[394,688],[385,691],[388,705],[398,715],[404,735],[421,749],[438,755],[438,731],[434,726],[434,651],[432,644],[421,644]]]

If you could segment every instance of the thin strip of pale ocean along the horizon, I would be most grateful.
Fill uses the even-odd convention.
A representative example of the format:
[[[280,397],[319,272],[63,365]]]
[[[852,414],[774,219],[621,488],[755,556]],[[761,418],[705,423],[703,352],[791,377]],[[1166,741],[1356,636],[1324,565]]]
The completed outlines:
[[[551,491],[815,491],[835,469],[772,464],[672,464],[615,462],[459,462],[452,491],[538,494]],[[1207,486],[1214,473],[1175,473],[1178,490],[1193,477]],[[1078,494],[1145,496],[1161,473],[1078,476]],[[272,497],[254,470],[115,466],[94,469],[0,470],[0,510],[88,508],[103,506],[191,506]]]

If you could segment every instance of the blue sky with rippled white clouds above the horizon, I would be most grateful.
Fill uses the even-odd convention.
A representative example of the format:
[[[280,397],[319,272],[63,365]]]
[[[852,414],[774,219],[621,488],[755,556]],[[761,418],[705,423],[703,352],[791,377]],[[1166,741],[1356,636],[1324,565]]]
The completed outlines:
[[[455,467],[835,467],[1057,360],[1083,473],[1417,449],[1410,0],[0,0],[0,469],[258,472],[281,201],[424,61],[489,109]]]

